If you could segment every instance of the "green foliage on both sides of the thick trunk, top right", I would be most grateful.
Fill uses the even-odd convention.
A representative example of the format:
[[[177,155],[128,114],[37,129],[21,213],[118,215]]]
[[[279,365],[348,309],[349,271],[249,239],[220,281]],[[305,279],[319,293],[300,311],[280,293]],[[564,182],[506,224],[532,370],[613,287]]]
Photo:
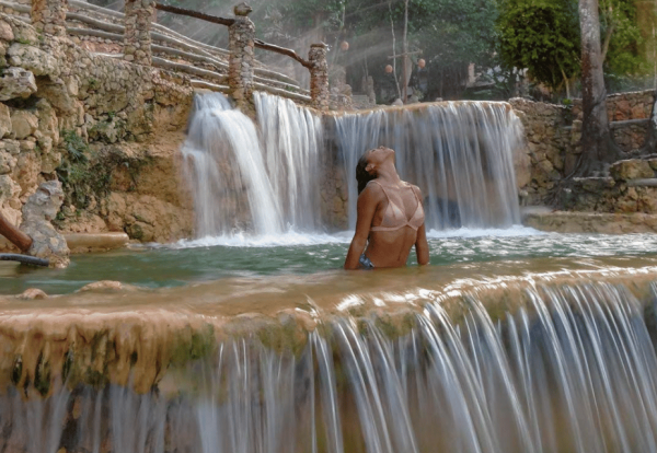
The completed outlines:
[[[552,89],[580,73],[580,35],[576,0],[499,0],[499,50],[503,60],[528,68]],[[602,59],[608,74],[638,74],[646,69],[633,0],[600,0]]]

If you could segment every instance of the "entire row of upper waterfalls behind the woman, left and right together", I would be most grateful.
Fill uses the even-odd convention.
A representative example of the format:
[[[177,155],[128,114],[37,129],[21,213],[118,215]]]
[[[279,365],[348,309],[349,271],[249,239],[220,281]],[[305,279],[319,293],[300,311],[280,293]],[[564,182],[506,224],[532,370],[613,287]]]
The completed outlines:
[[[400,174],[423,189],[429,229],[519,223],[512,153],[522,129],[508,104],[427,104],[323,123],[289,100],[255,93],[254,102],[257,127],[222,95],[196,96],[183,154],[198,236],[322,231],[331,217],[322,210],[334,209],[333,198],[323,206],[320,197],[327,175],[348,187],[354,228],[355,166],[380,144],[396,150]]]

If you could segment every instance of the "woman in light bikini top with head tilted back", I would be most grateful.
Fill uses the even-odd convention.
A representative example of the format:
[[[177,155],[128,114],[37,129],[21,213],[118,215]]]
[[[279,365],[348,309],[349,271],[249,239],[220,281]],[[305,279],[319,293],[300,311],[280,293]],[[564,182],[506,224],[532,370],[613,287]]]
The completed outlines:
[[[345,269],[405,266],[413,245],[417,264],[428,264],[422,193],[400,178],[394,151],[367,151],[356,166],[356,179],[358,218]]]

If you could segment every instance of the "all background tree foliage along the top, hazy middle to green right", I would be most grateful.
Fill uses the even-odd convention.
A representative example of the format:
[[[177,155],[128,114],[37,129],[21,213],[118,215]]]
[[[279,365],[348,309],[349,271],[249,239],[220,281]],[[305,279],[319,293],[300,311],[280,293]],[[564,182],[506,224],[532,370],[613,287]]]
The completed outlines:
[[[92,0],[117,3],[117,0]],[[237,0],[160,0],[210,14],[230,16]],[[634,0],[599,0],[604,71],[609,76],[647,71]],[[364,76],[378,86],[389,56],[402,51],[404,0],[250,0],[256,33],[300,54],[316,39],[331,46],[330,62],[347,68],[356,90]],[[162,23],[196,39],[227,45],[223,27],[162,15]],[[393,49],[393,33],[395,48]],[[349,51],[341,51],[347,40]],[[477,72],[497,68],[529,70],[537,82],[560,89],[580,73],[577,0],[408,0],[407,46],[426,60],[417,76],[427,80],[427,97],[458,97],[468,66]],[[397,60],[397,63],[401,62]],[[502,68],[502,70],[500,70]],[[414,71],[417,71],[414,66]],[[505,72],[506,71],[506,72]],[[392,82],[391,82],[392,81]]]

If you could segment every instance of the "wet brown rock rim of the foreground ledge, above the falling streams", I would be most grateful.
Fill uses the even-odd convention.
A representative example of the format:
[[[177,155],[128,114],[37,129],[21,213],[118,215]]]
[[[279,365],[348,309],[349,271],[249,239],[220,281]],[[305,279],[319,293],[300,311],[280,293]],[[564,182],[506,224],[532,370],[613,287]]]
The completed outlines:
[[[619,287],[637,304],[653,310],[657,264],[641,258],[633,266],[621,258],[604,262],[606,267],[596,260],[565,267],[562,260],[550,270],[540,264],[540,272],[480,274],[477,278],[463,266],[461,274],[442,276],[442,280],[436,276],[445,272],[435,267],[422,279],[406,279],[411,281],[405,286],[397,281],[390,288],[358,290],[347,283],[343,293],[332,290],[330,294],[326,288],[335,289],[334,280],[342,274],[324,276],[326,288],[316,277],[312,288],[298,279],[284,283],[278,277],[263,283],[278,284],[270,288],[270,306],[269,294],[257,288],[247,291],[251,295],[240,294],[234,286],[229,293],[219,293],[218,288],[230,287],[222,281],[166,290],[91,283],[90,290],[30,305],[23,299],[0,298],[0,392],[16,387],[26,395],[48,396],[62,386],[110,384],[138,394],[153,388],[188,391],[195,387],[189,384],[194,379],[189,370],[198,363],[216,367],[222,348],[235,341],[255,341],[272,353],[299,357],[313,333],[332,342],[334,326],[344,322],[359,335],[369,336],[374,328],[381,338],[393,340],[417,329],[435,307],[454,326],[468,324],[476,306],[494,324],[505,323],[519,311],[535,316],[532,298],[549,299],[562,288],[578,291],[603,284],[610,291]],[[243,290],[251,286],[241,283]]]

